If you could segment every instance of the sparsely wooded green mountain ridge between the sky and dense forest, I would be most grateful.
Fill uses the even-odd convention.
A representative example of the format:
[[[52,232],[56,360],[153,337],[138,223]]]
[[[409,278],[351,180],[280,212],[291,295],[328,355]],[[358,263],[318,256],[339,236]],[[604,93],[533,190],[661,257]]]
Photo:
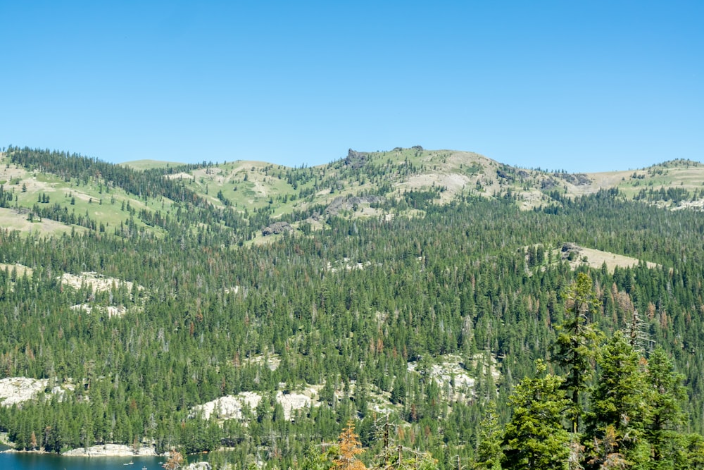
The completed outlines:
[[[82,161],[82,168],[68,168],[71,159]],[[135,185],[137,178],[141,181]],[[246,214],[251,230],[243,237],[248,242],[277,220],[315,229],[331,212],[379,216],[384,214],[382,201],[415,192],[425,192],[425,198],[439,204],[473,195],[508,198],[521,209],[561,205],[565,197],[600,190],[618,190],[622,199],[669,209],[704,206],[704,166],[698,162],[674,160],[636,171],[572,174],[515,168],[471,152],[421,147],[350,150],[344,159],[310,168],[257,161],[136,161],[116,166],[75,154],[11,148],[0,154],[0,182],[4,209],[14,209],[0,210],[0,221],[20,230],[61,233],[71,225],[92,224],[109,230],[121,222],[124,226],[131,215],[137,228],[163,235],[164,219],[187,197],[190,202],[197,199],[204,211]],[[253,212],[258,215],[250,218]],[[412,215],[413,209],[406,214]],[[227,216],[206,218],[213,217],[222,223]]]

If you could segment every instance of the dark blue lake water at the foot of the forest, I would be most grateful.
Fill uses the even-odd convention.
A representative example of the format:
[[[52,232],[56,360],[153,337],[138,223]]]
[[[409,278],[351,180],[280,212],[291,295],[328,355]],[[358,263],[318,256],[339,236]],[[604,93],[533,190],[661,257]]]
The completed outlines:
[[[7,447],[0,445],[0,450]],[[163,470],[165,457],[61,457],[55,454],[0,453],[2,470]],[[129,462],[132,461],[130,465]],[[127,465],[125,465],[127,464]]]

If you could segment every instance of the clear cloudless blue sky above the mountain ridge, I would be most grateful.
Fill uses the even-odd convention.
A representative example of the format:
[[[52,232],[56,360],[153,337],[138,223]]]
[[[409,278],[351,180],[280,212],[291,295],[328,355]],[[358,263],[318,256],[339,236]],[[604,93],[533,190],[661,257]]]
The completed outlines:
[[[0,1],[0,147],[704,160],[704,1]]]

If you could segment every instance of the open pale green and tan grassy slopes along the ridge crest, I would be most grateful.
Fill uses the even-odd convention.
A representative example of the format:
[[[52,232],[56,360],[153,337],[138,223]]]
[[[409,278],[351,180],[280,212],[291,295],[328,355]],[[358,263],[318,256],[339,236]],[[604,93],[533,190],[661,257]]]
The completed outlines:
[[[96,221],[103,222],[107,233],[113,233],[116,225],[129,218],[127,211],[122,209],[123,202],[129,202],[137,211],[147,209],[168,214],[171,209],[170,200],[165,198],[139,199],[118,189],[108,193],[95,183],[83,185],[75,181],[66,182],[56,175],[30,173],[8,162],[8,157],[0,154],[0,183],[15,192],[18,206],[31,208],[41,194],[47,194],[51,204],[60,204],[76,214],[89,214]],[[143,160],[122,164],[146,169],[177,166],[180,163]],[[298,178],[298,183],[289,184],[287,173],[309,178]],[[458,194],[503,197],[510,192],[524,209],[551,202],[547,195],[551,190],[577,196],[618,187],[629,198],[643,188],[659,190],[660,187],[681,187],[690,192],[704,190],[704,166],[688,161],[667,162],[638,171],[589,173],[585,176],[589,178],[589,184],[575,184],[577,182],[569,176],[514,168],[471,152],[394,149],[365,154],[364,165],[359,169],[345,165],[344,160],[311,168],[289,168],[261,161],[230,161],[189,173],[169,175],[169,178],[182,178],[192,190],[215,206],[224,206],[218,199],[221,192],[222,197],[238,211],[269,206],[274,216],[294,210],[303,211],[317,204],[327,205],[341,196],[379,194],[380,187],[388,190],[384,194],[386,197],[436,187],[441,189],[440,199],[443,202],[450,201]],[[319,187],[314,191],[316,181]],[[22,190],[23,185],[26,191]],[[667,205],[665,202],[662,204]],[[65,230],[58,223],[28,223],[27,215],[18,214],[18,211],[2,212],[0,223],[6,227],[21,230],[39,228],[50,233]],[[374,209],[362,207],[351,215],[378,214]],[[23,220],[15,220],[18,218]]]

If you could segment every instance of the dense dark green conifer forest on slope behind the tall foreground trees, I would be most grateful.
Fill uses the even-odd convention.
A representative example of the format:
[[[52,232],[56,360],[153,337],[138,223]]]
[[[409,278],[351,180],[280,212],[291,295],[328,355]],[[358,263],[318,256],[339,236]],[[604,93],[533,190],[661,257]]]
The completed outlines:
[[[187,181],[156,170],[49,152],[13,155],[26,171],[41,167],[45,178],[68,178],[86,193],[96,191],[96,201],[104,194],[102,204],[84,201],[86,208],[93,204],[87,215],[79,213],[88,222],[73,232],[0,232],[6,266],[0,270],[0,378],[46,378],[48,391],[54,385],[68,390],[0,407],[0,430],[19,447],[58,452],[143,441],[159,451],[196,452],[226,445],[233,447],[227,459],[241,466],[263,460],[282,468],[301,462],[309,443],[334,441],[356,419],[371,461],[382,454],[377,433],[388,414],[398,445],[429,450],[441,468],[456,468],[456,455],[467,466],[486,456],[479,443],[490,403],[503,436],[522,393],[542,387],[544,395],[560,385],[551,377],[568,376],[568,367],[553,360],[556,326],[570,319],[568,297],[579,274],[589,275],[586,288],[595,296],[589,323],[603,332],[598,342],[619,338],[615,332],[632,330],[638,319],[641,339],[632,354],[623,352],[627,341],[610,340],[608,347],[635,360],[636,369],[641,364],[643,375],[643,361],[660,345],[665,359],[658,360],[666,366],[672,360],[685,377],[679,402],[686,419],[672,423],[672,431],[704,430],[704,219],[698,211],[670,211],[620,190],[572,198],[546,190],[546,204],[526,211],[508,191],[447,199],[444,188],[431,186],[379,187],[374,194],[384,199],[369,204],[370,216],[357,209],[329,214],[314,200],[277,215],[267,204],[216,204],[189,190]],[[6,209],[21,194],[6,198]],[[116,218],[107,222],[99,208],[113,206],[113,196],[117,209],[110,217]],[[19,206],[15,214],[26,218]],[[40,212],[47,204],[37,206],[37,216],[52,217]],[[251,243],[275,221],[295,228],[266,244]],[[643,263],[572,271],[553,255],[564,242]],[[114,282],[94,290],[61,280],[64,273],[86,272],[130,281],[132,288]],[[83,305],[90,313],[75,308]],[[108,314],[116,305],[125,307],[122,316]],[[536,376],[536,359],[548,366],[542,375]],[[439,364],[449,360],[471,385],[461,388],[455,376],[436,378]],[[609,366],[589,361],[598,373],[584,384],[585,390],[595,385],[582,394],[584,412],[596,410],[590,397],[600,396]],[[286,419],[277,392],[304,388],[315,390],[313,402]],[[240,392],[261,397],[242,419],[213,414],[205,420],[194,411]],[[585,418],[579,432],[603,439],[605,420]],[[510,436],[520,429],[506,430],[508,466],[517,449]],[[615,439],[622,439],[618,432]],[[627,450],[646,455],[644,461],[655,452],[654,445],[633,449]]]

